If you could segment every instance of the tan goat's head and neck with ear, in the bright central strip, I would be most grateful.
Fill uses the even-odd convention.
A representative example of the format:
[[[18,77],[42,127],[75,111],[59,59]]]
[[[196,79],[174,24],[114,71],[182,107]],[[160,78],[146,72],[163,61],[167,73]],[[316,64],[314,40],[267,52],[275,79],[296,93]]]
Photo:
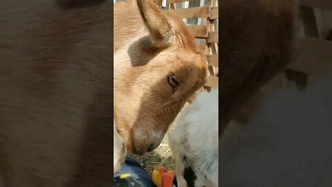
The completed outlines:
[[[158,147],[207,71],[181,19],[151,0],[136,3],[114,4],[114,120],[127,150],[145,154]]]

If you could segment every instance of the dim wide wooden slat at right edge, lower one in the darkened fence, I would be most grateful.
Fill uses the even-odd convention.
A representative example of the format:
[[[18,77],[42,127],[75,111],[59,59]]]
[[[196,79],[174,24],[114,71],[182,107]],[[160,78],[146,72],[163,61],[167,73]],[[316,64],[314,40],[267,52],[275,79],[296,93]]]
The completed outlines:
[[[332,42],[304,38],[299,44],[299,57],[288,66],[307,73],[309,78],[322,77],[332,72]]]

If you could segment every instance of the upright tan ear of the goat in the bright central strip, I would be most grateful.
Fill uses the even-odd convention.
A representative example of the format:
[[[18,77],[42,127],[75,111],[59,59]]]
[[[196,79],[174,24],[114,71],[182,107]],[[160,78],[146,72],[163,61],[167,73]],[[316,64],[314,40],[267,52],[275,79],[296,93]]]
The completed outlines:
[[[172,41],[172,26],[152,0],[136,0],[138,10],[149,30],[154,46],[168,46]]]

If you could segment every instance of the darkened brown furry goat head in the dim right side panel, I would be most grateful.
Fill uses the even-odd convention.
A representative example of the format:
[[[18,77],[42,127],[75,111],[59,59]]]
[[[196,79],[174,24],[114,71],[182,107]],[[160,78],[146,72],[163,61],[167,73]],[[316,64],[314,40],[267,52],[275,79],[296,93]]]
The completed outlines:
[[[239,107],[293,60],[295,7],[293,0],[220,2],[221,133]]]

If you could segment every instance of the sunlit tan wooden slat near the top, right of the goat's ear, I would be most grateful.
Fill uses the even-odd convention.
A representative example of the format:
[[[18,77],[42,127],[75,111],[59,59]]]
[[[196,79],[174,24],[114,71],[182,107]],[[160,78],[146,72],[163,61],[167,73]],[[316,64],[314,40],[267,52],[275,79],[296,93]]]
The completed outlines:
[[[181,19],[184,18],[199,18],[199,17],[210,17],[210,6],[201,6],[193,8],[181,8],[176,10],[164,10],[172,13]]]

